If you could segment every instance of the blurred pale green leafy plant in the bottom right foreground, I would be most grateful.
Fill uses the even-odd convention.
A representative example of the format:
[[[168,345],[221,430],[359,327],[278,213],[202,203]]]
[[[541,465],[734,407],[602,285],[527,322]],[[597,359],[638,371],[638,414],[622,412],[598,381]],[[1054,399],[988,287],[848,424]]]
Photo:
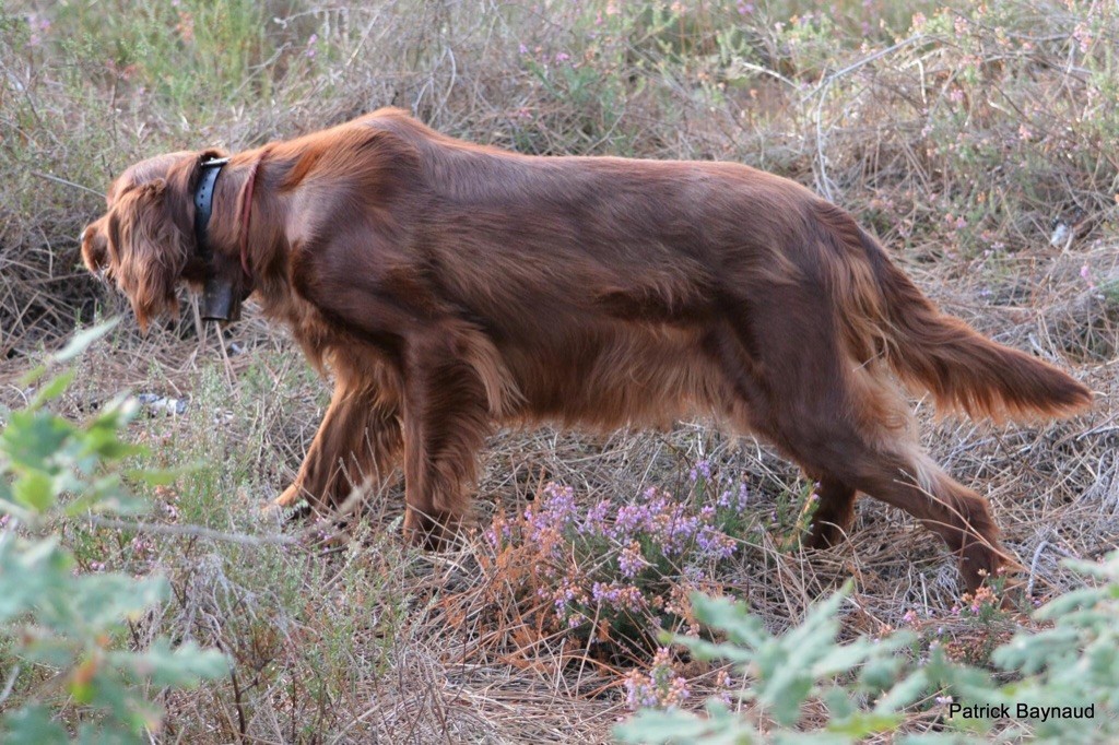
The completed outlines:
[[[718,699],[707,702],[705,716],[650,707],[615,735],[628,743],[853,743],[881,734],[903,743],[1112,742],[1119,736],[1119,551],[1102,564],[1070,566],[1099,586],[1057,597],[1035,613],[1046,626],[1023,629],[995,650],[993,662],[1013,677],[1004,683],[951,662],[939,647],[920,659],[910,631],[838,643],[849,585],[780,636],[741,603],[696,595],[696,617],[724,641],[670,641],[698,659],[734,666],[750,681],[737,694],[741,710]],[[812,701],[822,704],[822,722],[819,707],[808,720]],[[956,732],[904,734],[904,716],[916,707]]]

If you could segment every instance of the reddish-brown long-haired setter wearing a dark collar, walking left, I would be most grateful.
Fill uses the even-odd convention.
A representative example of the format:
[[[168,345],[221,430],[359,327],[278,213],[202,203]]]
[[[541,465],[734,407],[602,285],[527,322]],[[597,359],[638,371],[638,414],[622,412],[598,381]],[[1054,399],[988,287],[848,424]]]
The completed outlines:
[[[205,284],[225,299],[210,315],[255,294],[329,362],[333,399],[279,504],[338,504],[403,454],[405,527],[438,544],[500,423],[703,412],[820,482],[812,545],[864,491],[940,535],[975,588],[1004,562],[997,529],[921,450],[887,368],[969,415],[1091,400],[938,311],[847,213],[744,166],[527,157],[395,110],[219,155],[133,167],[82,252],[141,326]]]

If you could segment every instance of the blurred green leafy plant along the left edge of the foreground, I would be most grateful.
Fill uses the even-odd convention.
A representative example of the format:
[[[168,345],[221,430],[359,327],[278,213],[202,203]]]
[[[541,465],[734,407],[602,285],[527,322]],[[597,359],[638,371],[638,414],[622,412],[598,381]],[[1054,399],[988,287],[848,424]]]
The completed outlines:
[[[39,383],[112,326],[78,333],[23,383]],[[124,466],[141,450],[120,438],[135,413],[131,399],[113,398],[85,424],[50,412],[73,378],[73,370],[56,375],[25,408],[0,412],[7,419],[0,433],[0,661],[7,668],[0,705],[13,691],[22,704],[0,719],[4,743],[75,735],[83,743],[140,741],[162,717],[147,686],[189,687],[227,670],[224,656],[190,641],[172,647],[158,639],[145,649],[122,643],[130,626],[167,601],[162,577],[75,569],[59,521],[137,512],[142,504],[125,481],[159,482],[168,474]]]

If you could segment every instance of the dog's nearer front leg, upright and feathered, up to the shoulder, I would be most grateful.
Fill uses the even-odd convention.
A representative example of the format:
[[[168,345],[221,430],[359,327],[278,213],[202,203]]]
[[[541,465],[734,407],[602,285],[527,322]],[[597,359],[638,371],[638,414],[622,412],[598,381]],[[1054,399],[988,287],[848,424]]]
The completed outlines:
[[[325,318],[391,360],[389,377],[401,394],[404,529],[413,543],[439,548],[466,511],[477,453],[491,430],[490,398],[480,372],[487,368],[487,340],[472,337],[477,329],[444,312],[440,299],[415,276],[401,268],[386,276],[382,270],[388,258],[405,257],[375,229],[361,233],[361,252],[378,256],[378,262],[358,271],[351,261],[355,251],[346,241],[304,245],[292,275],[298,277],[297,291]],[[323,444],[314,463],[341,450],[328,443],[333,430],[348,430],[348,417],[335,418],[323,422]],[[307,469],[304,491],[313,482],[311,471]]]

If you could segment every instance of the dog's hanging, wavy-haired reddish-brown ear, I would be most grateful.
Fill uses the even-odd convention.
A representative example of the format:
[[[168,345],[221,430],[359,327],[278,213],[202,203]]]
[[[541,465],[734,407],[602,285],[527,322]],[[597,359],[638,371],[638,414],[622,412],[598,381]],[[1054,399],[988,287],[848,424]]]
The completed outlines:
[[[186,196],[154,179],[120,195],[107,216],[109,273],[132,302],[141,330],[161,311],[178,315],[175,286],[190,256],[194,236]]]

